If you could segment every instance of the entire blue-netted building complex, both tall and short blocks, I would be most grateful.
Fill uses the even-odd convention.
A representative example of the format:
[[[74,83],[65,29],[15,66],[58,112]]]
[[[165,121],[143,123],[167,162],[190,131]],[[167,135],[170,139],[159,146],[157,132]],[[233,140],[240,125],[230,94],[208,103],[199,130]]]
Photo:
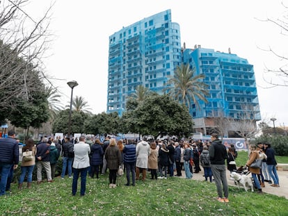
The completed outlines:
[[[248,118],[252,127],[261,119],[253,65],[236,54],[181,47],[179,24],[172,22],[166,10],[123,27],[109,37],[109,74],[106,112],[125,111],[127,97],[138,85],[163,94],[175,68],[189,63],[195,75],[205,74],[209,86],[208,103],[191,104],[189,112],[195,132],[214,133],[216,119]],[[245,115],[245,117],[243,117]],[[227,126],[226,137],[238,129]],[[233,136],[233,135],[232,135]]]

